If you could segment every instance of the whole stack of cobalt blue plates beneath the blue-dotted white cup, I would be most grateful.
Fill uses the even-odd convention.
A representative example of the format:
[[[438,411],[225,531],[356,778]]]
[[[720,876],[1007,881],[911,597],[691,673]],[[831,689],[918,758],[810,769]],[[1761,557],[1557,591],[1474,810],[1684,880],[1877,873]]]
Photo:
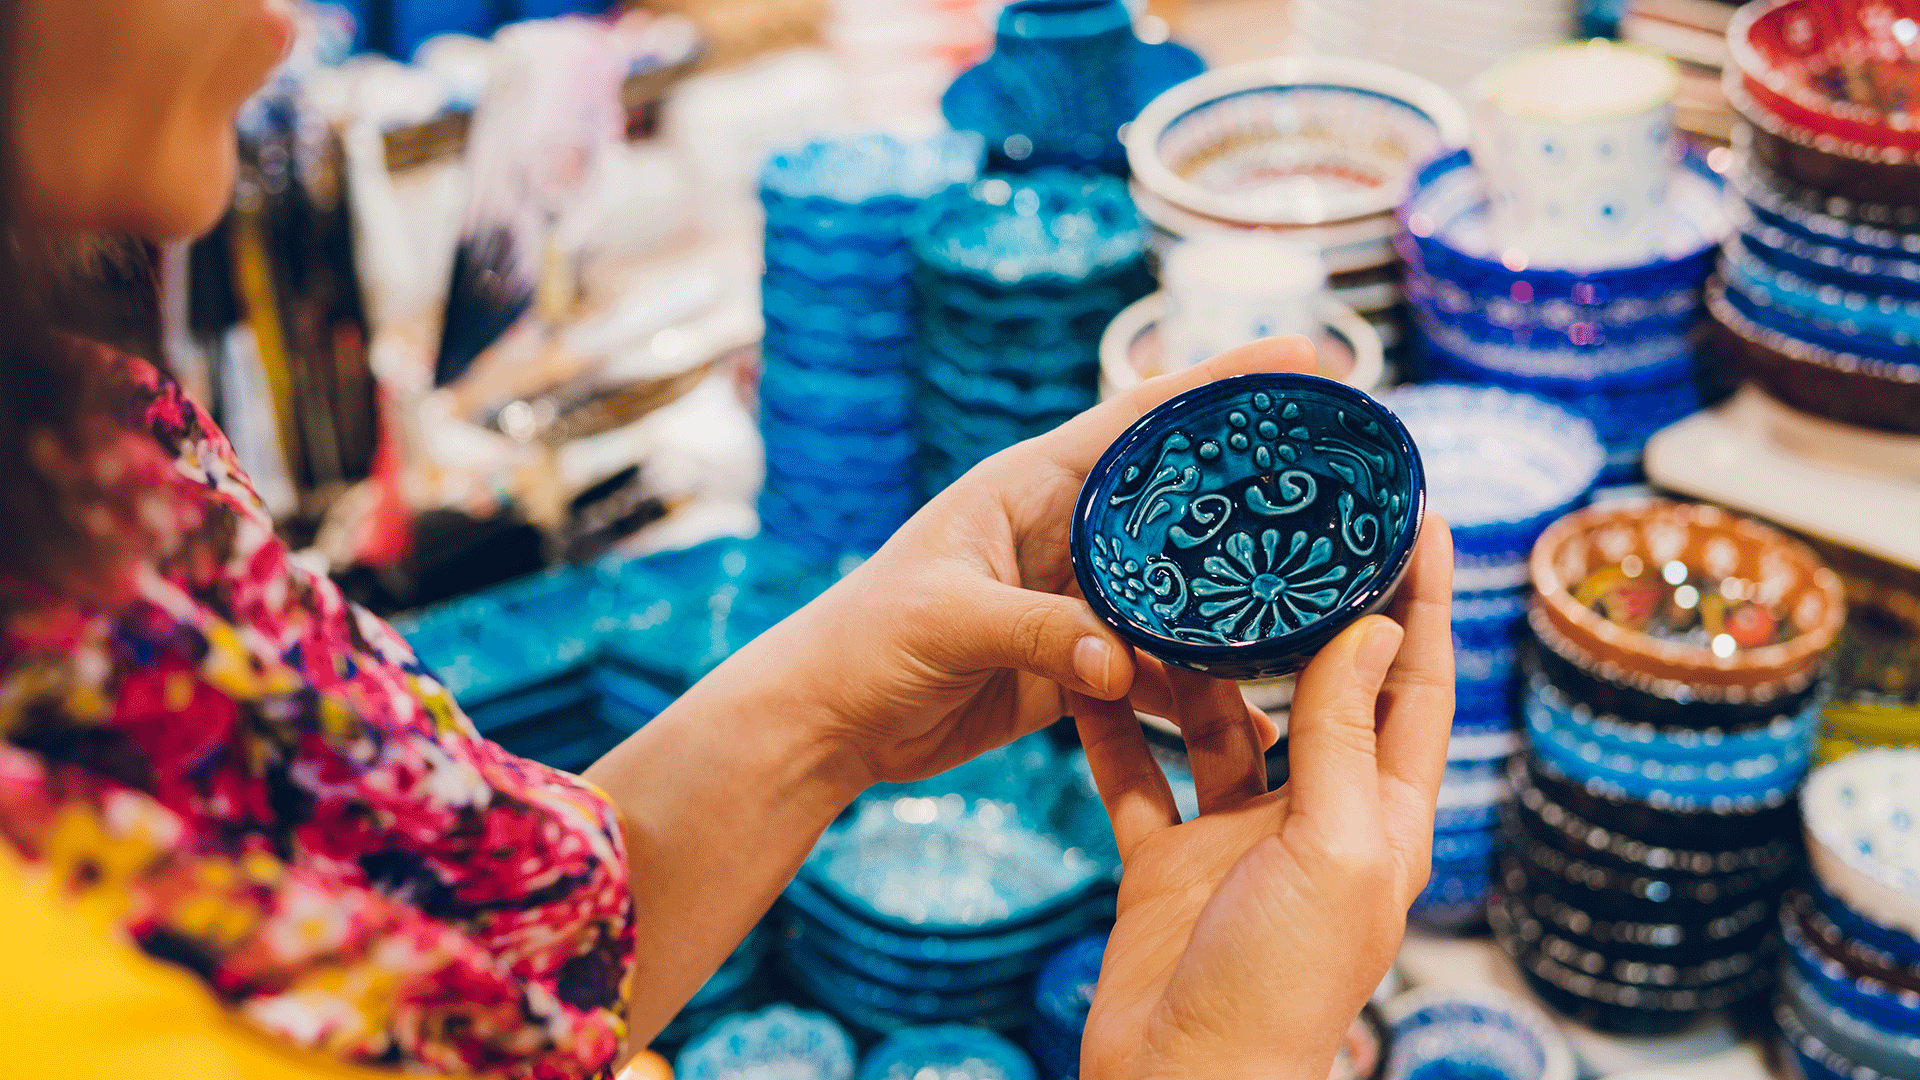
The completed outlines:
[[[1601,482],[1636,480],[1647,438],[1701,405],[1693,327],[1726,233],[1720,192],[1707,160],[1690,156],[1667,200],[1663,256],[1576,273],[1500,250],[1486,184],[1465,152],[1427,165],[1396,238],[1427,373],[1567,405],[1607,448]]]

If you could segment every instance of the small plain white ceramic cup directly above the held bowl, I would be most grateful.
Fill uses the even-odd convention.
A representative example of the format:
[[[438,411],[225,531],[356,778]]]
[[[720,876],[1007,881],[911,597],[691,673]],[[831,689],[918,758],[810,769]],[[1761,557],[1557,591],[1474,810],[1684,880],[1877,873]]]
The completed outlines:
[[[1319,332],[1327,267],[1319,248],[1304,240],[1194,236],[1167,252],[1160,279],[1167,296],[1167,371],[1252,340]]]

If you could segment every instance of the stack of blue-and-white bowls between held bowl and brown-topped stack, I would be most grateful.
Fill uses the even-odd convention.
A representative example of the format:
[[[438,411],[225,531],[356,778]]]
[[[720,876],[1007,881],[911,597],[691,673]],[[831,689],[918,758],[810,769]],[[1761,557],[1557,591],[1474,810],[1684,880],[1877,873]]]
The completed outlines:
[[[1515,748],[1526,555],[1549,523],[1586,500],[1605,454],[1584,419],[1494,386],[1404,386],[1380,402],[1413,434],[1432,509],[1453,527],[1453,740],[1432,878],[1413,917],[1461,928],[1480,920],[1492,882],[1494,813]]]

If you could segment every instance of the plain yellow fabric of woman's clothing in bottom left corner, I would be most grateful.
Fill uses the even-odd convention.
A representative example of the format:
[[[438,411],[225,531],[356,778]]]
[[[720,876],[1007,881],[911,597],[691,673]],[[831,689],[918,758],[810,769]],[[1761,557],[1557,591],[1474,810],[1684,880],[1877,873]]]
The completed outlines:
[[[8,1080],[394,1080],[282,1045],[192,974],[61,905],[0,842],[0,1076]]]

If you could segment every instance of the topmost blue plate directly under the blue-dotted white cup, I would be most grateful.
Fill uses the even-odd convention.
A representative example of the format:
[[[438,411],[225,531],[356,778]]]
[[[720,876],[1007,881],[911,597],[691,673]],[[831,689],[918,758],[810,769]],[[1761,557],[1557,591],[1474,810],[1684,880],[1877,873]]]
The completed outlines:
[[[1473,156],[1455,150],[1419,171],[1413,194],[1400,208],[1396,244],[1409,263],[1480,296],[1511,296],[1524,284],[1532,302],[1572,300],[1607,304],[1620,296],[1663,296],[1699,286],[1713,271],[1715,250],[1726,234],[1722,206],[1726,181],[1705,156],[1688,154],[1668,192],[1672,223],[1663,256],[1638,267],[1563,271],[1509,267],[1488,223],[1486,184]]]

